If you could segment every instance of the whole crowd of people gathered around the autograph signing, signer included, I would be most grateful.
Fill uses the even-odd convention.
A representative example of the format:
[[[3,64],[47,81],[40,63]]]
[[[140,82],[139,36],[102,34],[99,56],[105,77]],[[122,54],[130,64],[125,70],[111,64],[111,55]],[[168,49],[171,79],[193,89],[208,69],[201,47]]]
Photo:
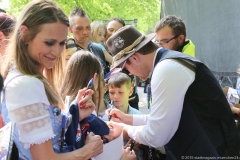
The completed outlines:
[[[239,156],[232,114],[239,109],[186,37],[174,15],[144,35],[119,17],[91,22],[80,7],[68,17],[51,0],[29,2],[17,20],[1,9],[0,128],[13,126],[8,156],[88,160],[122,134],[121,160]],[[148,115],[139,111],[136,76],[148,80]]]

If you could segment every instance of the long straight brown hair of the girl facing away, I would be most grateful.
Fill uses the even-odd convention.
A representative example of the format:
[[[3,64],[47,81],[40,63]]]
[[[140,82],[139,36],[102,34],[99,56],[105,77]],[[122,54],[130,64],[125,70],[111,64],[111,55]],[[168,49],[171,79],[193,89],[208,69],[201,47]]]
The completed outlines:
[[[96,92],[94,86],[98,85],[99,102],[100,99],[103,99],[100,91],[102,89],[100,88],[100,83],[103,81],[102,68],[98,58],[94,54],[84,50],[77,51],[69,59],[65,71],[60,89],[62,99],[70,96],[70,102],[72,102],[77,96],[79,89],[87,87],[89,80],[93,78],[95,73],[97,73],[98,82],[97,84],[93,84],[92,90]],[[93,102],[95,103],[94,95]],[[96,106],[96,108],[98,110],[99,106]]]

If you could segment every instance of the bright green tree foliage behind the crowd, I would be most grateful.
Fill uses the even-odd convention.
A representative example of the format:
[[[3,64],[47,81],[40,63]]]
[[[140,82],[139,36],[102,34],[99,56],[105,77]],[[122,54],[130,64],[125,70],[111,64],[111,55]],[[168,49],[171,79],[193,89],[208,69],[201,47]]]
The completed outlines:
[[[9,0],[10,14],[18,16],[30,0]],[[82,7],[92,21],[108,20],[112,17],[137,19],[137,28],[143,33],[153,31],[160,18],[161,0],[55,0],[69,15],[75,6]]]

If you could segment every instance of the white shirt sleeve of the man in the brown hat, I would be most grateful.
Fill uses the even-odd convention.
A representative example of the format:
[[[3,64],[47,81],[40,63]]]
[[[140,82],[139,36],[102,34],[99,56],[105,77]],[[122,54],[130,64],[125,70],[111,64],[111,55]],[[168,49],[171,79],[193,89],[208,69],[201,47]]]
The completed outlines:
[[[162,147],[178,129],[183,101],[195,73],[185,66],[166,59],[158,63],[151,80],[152,106],[149,116],[133,115],[128,135],[145,145]]]

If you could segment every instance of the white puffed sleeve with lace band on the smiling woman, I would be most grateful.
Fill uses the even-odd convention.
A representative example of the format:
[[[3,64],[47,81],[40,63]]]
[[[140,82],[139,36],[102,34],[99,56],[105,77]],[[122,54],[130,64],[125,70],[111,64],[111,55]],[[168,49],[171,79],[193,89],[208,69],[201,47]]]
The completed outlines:
[[[30,76],[14,78],[5,89],[5,102],[25,148],[55,136],[48,112],[50,104],[40,80]]]

